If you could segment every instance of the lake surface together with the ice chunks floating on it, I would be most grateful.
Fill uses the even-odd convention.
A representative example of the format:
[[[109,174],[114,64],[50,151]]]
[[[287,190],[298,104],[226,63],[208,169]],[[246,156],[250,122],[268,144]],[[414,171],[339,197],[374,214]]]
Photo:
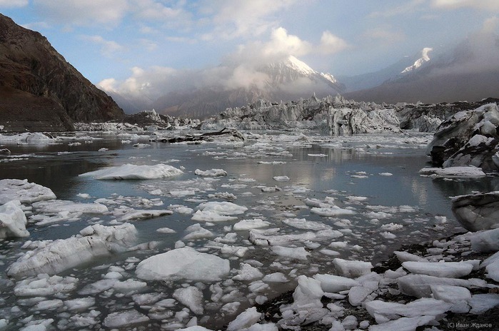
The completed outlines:
[[[440,233],[453,230],[450,221],[438,223],[435,216],[452,218],[447,196],[463,193],[451,181],[419,175],[427,138],[418,134],[332,138],[263,133],[243,144],[201,145],[130,136],[133,143],[150,143],[148,148],[121,143],[121,136],[109,139],[109,146],[106,139],[61,146],[64,153],[51,159],[67,168],[40,177],[32,175],[40,163],[24,164],[25,173],[19,175],[56,190],[49,196],[36,188],[54,201],[24,202],[28,238],[0,242],[5,285],[0,310],[9,323],[28,325],[26,317],[33,316],[69,328],[171,330],[196,321],[215,329],[255,302],[294,289],[301,275],[330,274],[335,258],[374,264],[380,252],[424,240],[436,227]],[[86,151],[73,153],[71,148]],[[103,169],[112,171],[95,173]],[[226,175],[199,175],[198,169]],[[101,175],[136,180],[97,179]],[[452,193],[443,194],[435,185]],[[9,191],[7,196],[19,195]],[[84,207],[91,211],[84,213]],[[328,213],[317,213],[321,210]],[[6,277],[6,268],[30,250],[50,248],[51,240],[66,240],[89,225],[124,222],[136,228],[136,242],[91,262],[71,260],[71,268],[56,275],[63,277],[61,284],[71,284],[64,292],[36,292],[55,280],[53,275],[28,282]],[[176,272],[160,268],[165,263]],[[204,265],[212,265],[216,275],[204,272]],[[363,265],[352,268],[363,270]],[[339,286],[331,277],[320,281]],[[15,294],[21,289],[30,293],[30,287],[38,294]]]

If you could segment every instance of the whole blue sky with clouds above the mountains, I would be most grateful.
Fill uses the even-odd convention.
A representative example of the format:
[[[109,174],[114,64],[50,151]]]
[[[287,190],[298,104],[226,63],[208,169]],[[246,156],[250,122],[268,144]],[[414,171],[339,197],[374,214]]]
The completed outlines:
[[[0,0],[0,12],[93,83],[131,89],[288,55],[351,76],[499,31],[498,0]]]

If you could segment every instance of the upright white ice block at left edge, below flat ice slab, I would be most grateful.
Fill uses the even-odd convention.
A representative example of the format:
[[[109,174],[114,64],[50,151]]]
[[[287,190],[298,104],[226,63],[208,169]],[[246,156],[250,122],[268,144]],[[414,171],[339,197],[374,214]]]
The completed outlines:
[[[11,200],[0,205],[0,238],[27,237],[26,215],[19,200]]]

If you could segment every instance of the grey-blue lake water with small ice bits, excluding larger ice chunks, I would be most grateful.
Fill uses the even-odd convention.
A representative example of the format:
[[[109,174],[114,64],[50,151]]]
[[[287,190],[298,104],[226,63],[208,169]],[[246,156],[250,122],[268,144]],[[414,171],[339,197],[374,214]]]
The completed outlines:
[[[172,136],[174,133],[160,134]],[[81,320],[89,320],[85,327],[99,330],[107,315],[135,309],[150,317],[147,322],[133,325],[138,330],[173,330],[186,325],[193,317],[197,317],[199,325],[221,327],[256,301],[263,302],[296,287],[298,275],[333,273],[333,258],[371,261],[375,265],[400,245],[463,232],[450,211],[450,197],[499,190],[499,180],[495,176],[421,176],[418,170],[429,166],[425,156],[425,146],[433,137],[429,133],[406,131],[341,137],[313,132],[245,134],[243,142],[216,138],[201,144],[151,141],[156,136],[148,133],[76,133],[53,143],[38,144],[0,141],[0,148],[11,151],[11,156],[0,157],[0,179],[27,179],[50,188],[59,200],[94,203],[101,199],[110,210],[109,213],[77,215],[44,225],[37,225],[31,220],[34,213],[28,213],[30,236],[0,241],[0,281],[7,284],[0,292],[0,316],[17,327],[29,325],[25,319],[32,316],[32,320],[53,319],[48,323],[49,329],[56,330],[59,325],[59,328],[76,330],[81,327],[76,319],[71,319],[71,315],[76,314]],[[183,170],[183,174],[150,180],[96,180],[80,176],[128,163],[164,163]],[[195,174],[196,169],[223,169],[227,175],[201,177]],[[15,281],[6,282],[6,268],[26,253],[27,250],[21,248],[26,240],[65,239],[77,235],[88,225],[119,224],[119,217],[112,213],[119,208],[176,210],[182,206],[196,211],[200,203],[226,200],[248,210],[237,215],[237,220],[213,223],[196,222],[191,220],[192,213],[176,211],[171,215],[130,220],[138,231],[137,244],[154,242],[154,245],[66,270],[59,275],[76,277],[76,290],[39,299],[56,298],[64,302],[88,297],[79,294],[79,290],[102,280],[109,270],[114,270],[113,267],[124,270],[122,282],[138,280],[134,273],[137,262],[172,250],[180,240],[204,253],[230,260],[231,274],[217,282],[223,291],[223,300],[213,300],[213,284],[210,283],[147,281],[145,287],[98,292],[94,295],[94,305],[76,312],[69,312],[64,305],[39,310],[35,308],[39,300],[17,297],[14,295]],[[312,213],[314,205],[320,203],[331,203],[351,213],[331,217]],[[39,215],[37,220],[51,216],[54,215]],[[261,230],[278,228],[279,235],[314,232],[318,224],[323,224],[341,232],[341,237],[287,243],[293,248],[304,247],[309,253],[305,260],[295,259],[279,255],[267,245],[251,243],[249,230],[232,228],[241,220],[253,219],[269,223]],[[196,223],[212,235],[185,240],[186,228]],[[172,231],[158,232],[160,228]],[[223,244],[247,250],[242,256],[225,254],[220,249]],[[282,273],[286,281],[233,280],[241,270],[241,263],[256,267],[263,275]],[[256,286],[251,287],[251,284]],[[176,288],[187,285],[196,285],[202,290],[203,314],[186,310],[181,302],[163,309],[163,315],[151,314],[149,306],[155,303],[154,295],[168,299]],[[150,305],[139,305],[137,295],[144,298],[147,294],[151,295]]]

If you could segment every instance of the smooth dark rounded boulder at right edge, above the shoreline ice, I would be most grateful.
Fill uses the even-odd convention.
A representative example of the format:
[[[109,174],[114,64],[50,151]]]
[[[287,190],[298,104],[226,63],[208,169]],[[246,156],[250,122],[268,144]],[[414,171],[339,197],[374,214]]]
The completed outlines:
[[[452,212],[470,231],[499,227],[499,191],[460,195],[452,200]]]

